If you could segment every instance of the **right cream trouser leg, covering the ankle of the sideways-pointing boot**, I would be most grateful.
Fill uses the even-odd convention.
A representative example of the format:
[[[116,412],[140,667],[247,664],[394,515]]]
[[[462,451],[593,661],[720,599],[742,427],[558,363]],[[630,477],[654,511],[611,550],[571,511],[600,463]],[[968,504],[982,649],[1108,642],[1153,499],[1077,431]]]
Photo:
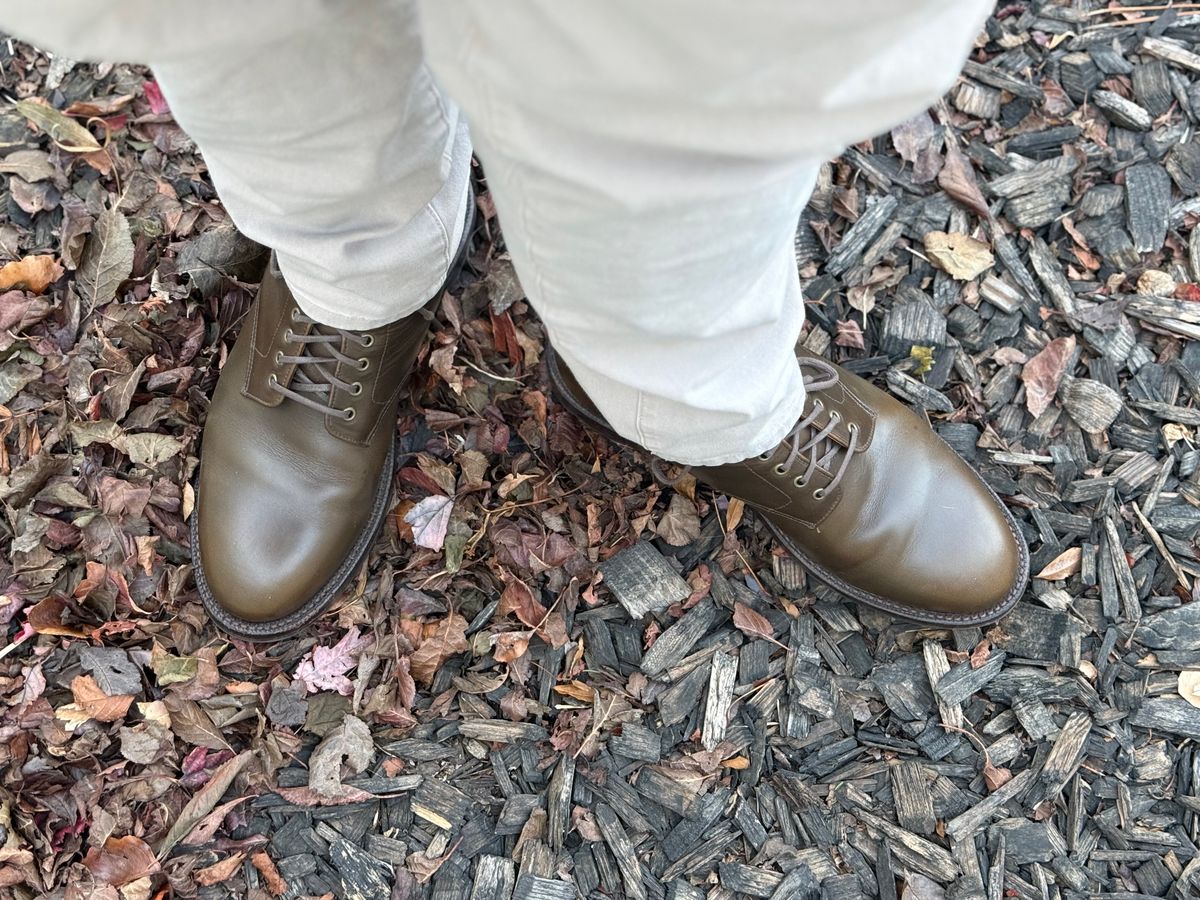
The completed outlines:
[[[613,427],[774,446],[804,402],[792,236],[821,161],[956,76],[984,0],[421,0],[524,289]]]

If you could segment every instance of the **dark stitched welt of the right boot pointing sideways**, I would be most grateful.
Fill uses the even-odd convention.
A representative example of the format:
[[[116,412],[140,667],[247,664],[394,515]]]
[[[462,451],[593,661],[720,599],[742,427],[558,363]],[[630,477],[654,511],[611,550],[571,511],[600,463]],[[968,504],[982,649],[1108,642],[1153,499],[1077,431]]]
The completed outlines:
[[[563,386],[563,377],[558,371],[558,355],[553,352],[552,348],[550,347],[546,348],[545,358],[546,358],[546,370],[550,373],[551,390],[554,395],[554,398],[565,409],[568,409],[576,419],[586,424],[593,431],[604,434],[606,438],[608,438],[608,440],[619,444],[622,446],[628,446],[634,450],[644,451],[644,448],[637,446],[631,440],[620,437],[620,434],[618,434],[612,430],[608,422],[606,422],[604,419],[600,419],[594,413],[592,413],[588,409],[584,409],[583,407],[581,407],[578,403],[575,402],[570,392]],[[1008,524],[1008,529],[1009,532],[1012,532],[1013,539],[1016,541],[1016,546],[1019,547],[1020,559],[1021,559],[1020,572],[1019,577],[1013,582],[1013,588],[1009,590],[1009,593],[1004,596],[1003,600],[982,612],[970,613],[970,614],[914,610],[913,607],[906,606],[905,604],[898,604],[895,600],[889,600],[886,596],[872,594],[871,592],[863,590],[862,588],[856,588],[853,584],[847,583],[841,577],[839,577],[838,575],[829,571],[823,565],[810,558],[803,550],[796,546],[796,544],[793,544],[791,539],[788,539],[788,536],[784,534],[781,529],[776,528],[774,522],[772,522],[770,518],[768,518],[766,515],[755,510],[750,505],[746,505],[746,510],[754,512],[755,516],[760,518],[763,522],[763,524],[767,526],[770,533],[775,536],[775,540],[779,541],[780,546],[784,550],[786,550],[792,557],[794,557],[800,565],[803,565],[809,572],[811,572],[820,581],[824,582],[830,588],[836,590],[839,594],[845,594],[852,600],[856,600],[860,604],[865,604],[866,606],[875,607],[876,610],[881,610],[890,616],[907,619],[910,622],[917,622],[923,625],[940,625],[944,628],[968,628],[972,625],[990,625],[997,619],[1003,618],[1004,614],[1008,613],[1008,611],[1016,605],[1016,602],[1021,599],[1021,595],[1025,593],[1025,583],[1028,580],[1028,571],[1030,571],[1030,551],[1028,547],[1025,545],[1025,540],[1020,536],[1020,533],[1016,530],[1016,523],[1013,521],[1012,512],[1008,511],[1008,508],[1004,506],[1003,502],[1000,499],[1000,497],[996,496],[995,491],[992,491],[989,487],[988,492],[991,494],[992,500],[996,503],[1000,510],[1004,514],[1004,522]]]

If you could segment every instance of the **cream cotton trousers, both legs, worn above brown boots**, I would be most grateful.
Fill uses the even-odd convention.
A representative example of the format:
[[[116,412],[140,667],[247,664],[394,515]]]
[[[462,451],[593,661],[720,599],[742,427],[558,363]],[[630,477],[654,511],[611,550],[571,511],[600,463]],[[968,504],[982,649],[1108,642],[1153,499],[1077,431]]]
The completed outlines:
[[[718,464],[800,415],[792,239],[817,167],[946,91],[989,10],[6,0],[0,28],[154,66],[234,222],[330,325],[382,325],[432,295],[474,145],[588,395],[659,456]]]

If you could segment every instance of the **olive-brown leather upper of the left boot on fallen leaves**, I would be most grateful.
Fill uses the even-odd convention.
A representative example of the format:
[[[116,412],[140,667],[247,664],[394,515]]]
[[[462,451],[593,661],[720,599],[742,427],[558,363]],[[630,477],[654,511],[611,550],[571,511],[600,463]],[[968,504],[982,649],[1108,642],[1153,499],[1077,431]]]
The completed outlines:
[[[305,352],[288,335],[313,328],[296,310],[272,266],[221,372],[204,430],[203,574],[220,606],[247,622],[282,618],[311,600],[373,527],[380,479],[391,478],[384,469],[400,390],[428,330],[421,311],[355,332],[370,336],[370,347],[342,341],[342,354],[358,365],[331,367],[361,385],[354,394],[332,390],[332,410],[354,410],[346,421],[271,388],[272,378],[287,385],[295,377],[296,366],[277,359]]]

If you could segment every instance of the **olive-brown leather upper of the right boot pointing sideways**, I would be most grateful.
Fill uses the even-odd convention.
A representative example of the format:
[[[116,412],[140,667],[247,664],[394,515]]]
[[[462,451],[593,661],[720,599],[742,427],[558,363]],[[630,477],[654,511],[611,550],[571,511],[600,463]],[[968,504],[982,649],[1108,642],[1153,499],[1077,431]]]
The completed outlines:
[[[576,412],[602,422],[562,360],[554,370],[556,388]],[[838,383],[810,391],[805,403],[806,413],[820,404],[818,427],[838,420],[830,438],[842,454],[854,444],[832,491],[828,468],[817,467],[806,484],[798,482],[806,458],[785,469],[786,439],[761,457],[692,467],[692,474],[758,510],[788,550],[852,596],[946,624],[1002,612],[1028,569],[1007,509],[923,418],[862,378],[836,372]]]

